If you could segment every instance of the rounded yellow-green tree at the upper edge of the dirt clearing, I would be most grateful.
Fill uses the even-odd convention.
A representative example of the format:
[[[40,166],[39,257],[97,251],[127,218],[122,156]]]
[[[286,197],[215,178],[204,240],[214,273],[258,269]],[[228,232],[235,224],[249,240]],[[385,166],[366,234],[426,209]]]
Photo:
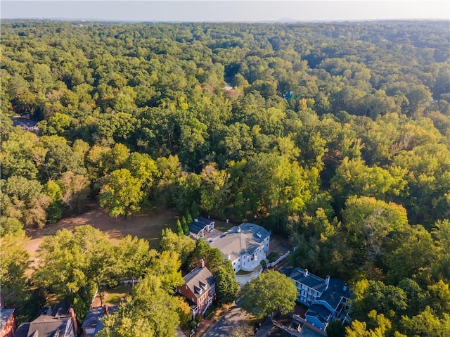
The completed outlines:
[[[100,205],[110,215],[124,215],[125,219],[132,212],[139,210],[143,193],[139,179],[131,176],[127,169],[115,170],[100,191]]]

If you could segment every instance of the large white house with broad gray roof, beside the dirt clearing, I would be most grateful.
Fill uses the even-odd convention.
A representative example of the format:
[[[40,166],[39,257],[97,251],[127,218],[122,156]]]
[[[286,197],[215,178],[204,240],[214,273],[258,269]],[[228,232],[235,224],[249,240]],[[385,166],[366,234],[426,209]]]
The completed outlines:
[[[231,261],[236,273],[240,269],[251,272],[259,266],[266,259],[269,241],[270,233],[264,227],[244,223],[232,227],[210,244]]]

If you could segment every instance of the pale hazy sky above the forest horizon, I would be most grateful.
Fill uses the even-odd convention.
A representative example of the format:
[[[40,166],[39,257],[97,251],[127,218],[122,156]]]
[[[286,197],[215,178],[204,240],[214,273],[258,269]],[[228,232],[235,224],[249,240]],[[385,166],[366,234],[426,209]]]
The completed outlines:
[[[450,1],[0,1],[0,18],[68,20],[264,22],[390,19],[450,20]],[[450,31],[450,26],[449,26]]]

